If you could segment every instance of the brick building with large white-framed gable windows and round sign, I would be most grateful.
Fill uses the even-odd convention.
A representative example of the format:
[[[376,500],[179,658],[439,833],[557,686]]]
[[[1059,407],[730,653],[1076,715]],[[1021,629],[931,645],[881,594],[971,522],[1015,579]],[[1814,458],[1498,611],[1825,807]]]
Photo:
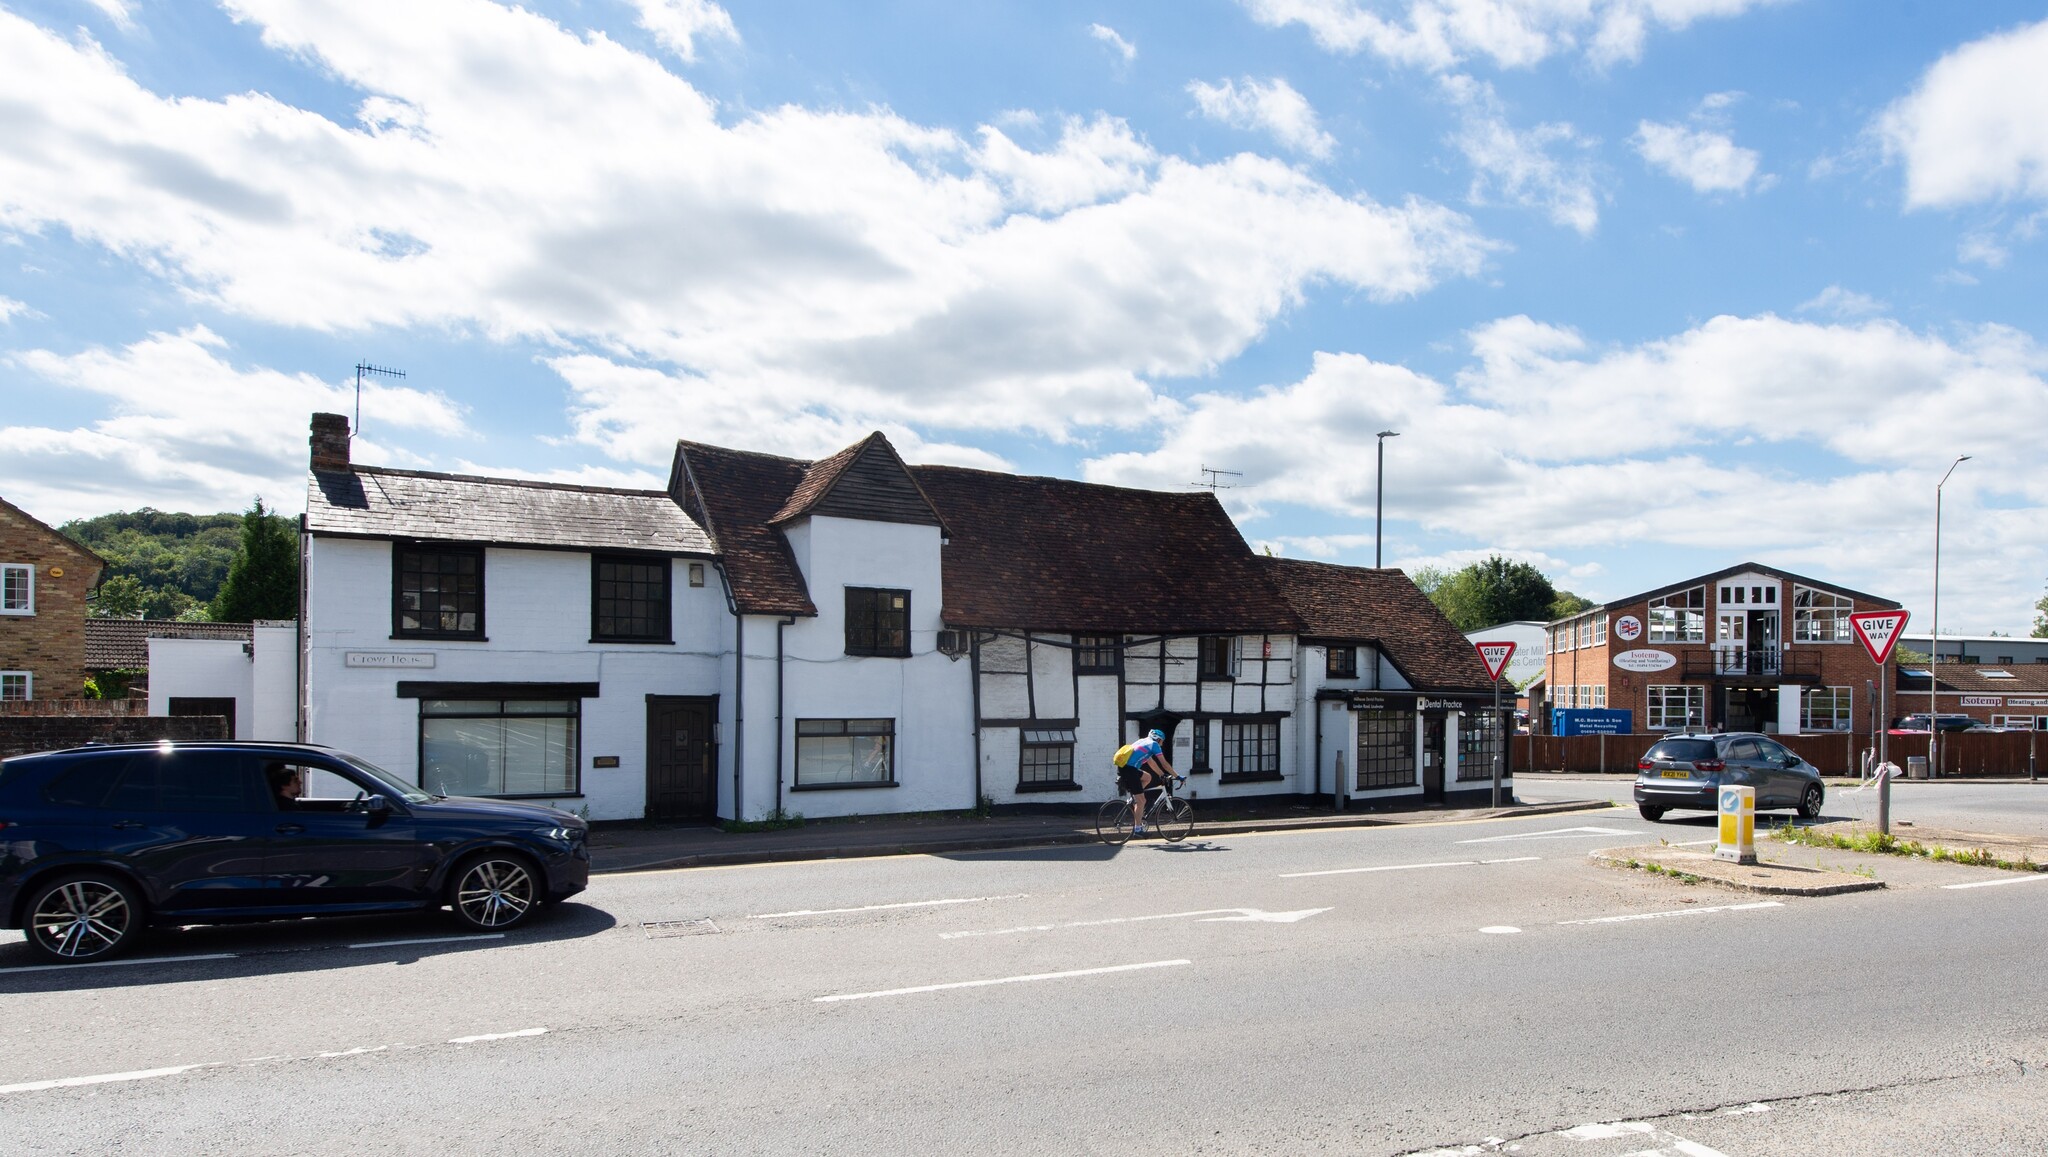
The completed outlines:
[[[1849,614],[1896,608],[1759,563],[1690,577],[1552,623],[1548,706],[1630,711],[1638,733],[1868,733],[1878,666]]]

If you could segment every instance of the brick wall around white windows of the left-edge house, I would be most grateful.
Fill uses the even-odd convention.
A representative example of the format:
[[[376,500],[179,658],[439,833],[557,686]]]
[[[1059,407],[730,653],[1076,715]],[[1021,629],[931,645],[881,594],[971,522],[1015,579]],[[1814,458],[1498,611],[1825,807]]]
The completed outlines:
[[[0,563],[35,567],[35,614],[0,614],[0,672],[31,672],[35,698],[76,698],[86,682],[86,594],[98,563],[4,504]]]

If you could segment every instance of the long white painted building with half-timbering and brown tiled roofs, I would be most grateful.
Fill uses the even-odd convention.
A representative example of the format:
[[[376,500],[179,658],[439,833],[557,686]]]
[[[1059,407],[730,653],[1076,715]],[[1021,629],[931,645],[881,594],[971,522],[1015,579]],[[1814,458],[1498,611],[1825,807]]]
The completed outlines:
[[[907,467],[881,434],[815,463],[678,442],[631,491],[362,467],[315,416],[297,715],[430,790],[592,819],[1092,807],[1155,725],[1200,797],[1339,766],[1348,797],[1468,792],[1444,696],[1477,655],[1399,571],[1305,567],[1206,494]],[[1378,684],[1309,670],[1335,604]],[[1372,686],[1415,743],[1360,788]]]

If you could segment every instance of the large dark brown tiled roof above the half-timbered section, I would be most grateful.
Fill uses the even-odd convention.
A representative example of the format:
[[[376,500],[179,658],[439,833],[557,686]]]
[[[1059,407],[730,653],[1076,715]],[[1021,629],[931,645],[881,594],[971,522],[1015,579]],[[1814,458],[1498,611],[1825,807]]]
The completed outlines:
[[[1212,494],[911,467],[952,532],[946,623],[1128,635],[1294,633]]]

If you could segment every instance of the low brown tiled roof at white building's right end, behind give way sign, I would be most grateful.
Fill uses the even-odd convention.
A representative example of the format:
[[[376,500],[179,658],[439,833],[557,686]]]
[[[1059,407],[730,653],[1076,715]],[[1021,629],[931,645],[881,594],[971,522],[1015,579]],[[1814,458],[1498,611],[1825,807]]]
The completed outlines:
[[[1372,643],[1417,690],[1489,690],[1479,651],[1405,573],[1262,559],[1303,618],[1303,635]]]

